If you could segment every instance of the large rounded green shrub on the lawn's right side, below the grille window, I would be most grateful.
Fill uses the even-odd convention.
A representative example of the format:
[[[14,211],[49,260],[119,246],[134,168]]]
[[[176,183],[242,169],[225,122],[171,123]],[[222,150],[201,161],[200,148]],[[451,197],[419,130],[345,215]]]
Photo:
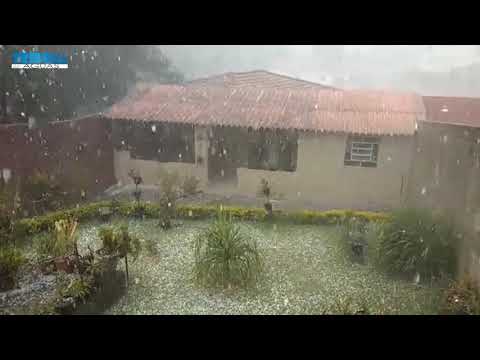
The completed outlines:
[[[452,224],[430,211],[402,209],[381,232],[378,258],[390,273],[434,278],[456,269]]]

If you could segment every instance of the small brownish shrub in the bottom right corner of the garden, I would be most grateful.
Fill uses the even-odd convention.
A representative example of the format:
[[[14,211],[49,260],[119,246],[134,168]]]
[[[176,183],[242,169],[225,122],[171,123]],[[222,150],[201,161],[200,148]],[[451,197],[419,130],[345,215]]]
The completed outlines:
[[[453,282],[443,293],[440,313],[480,315],[480,290],[468,275]]]

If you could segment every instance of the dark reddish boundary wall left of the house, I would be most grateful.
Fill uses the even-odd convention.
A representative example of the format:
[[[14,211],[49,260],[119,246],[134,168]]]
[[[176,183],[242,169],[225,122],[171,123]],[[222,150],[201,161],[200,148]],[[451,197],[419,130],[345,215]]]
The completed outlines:
[[[116,182],[111,122],[91,116],[37,129],[0,126],[0,171],[5,168],[13,181],[35,169],[58,173],[65,191],[77,195],[84,190],[92,198]]]

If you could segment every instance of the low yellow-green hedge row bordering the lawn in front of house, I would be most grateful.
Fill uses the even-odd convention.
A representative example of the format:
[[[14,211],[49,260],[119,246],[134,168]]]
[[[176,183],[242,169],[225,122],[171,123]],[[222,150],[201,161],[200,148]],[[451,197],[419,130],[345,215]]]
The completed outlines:
[[[140,208],[146,218],[157,218],[160,207],[157,204],[142,203]],[[28,219],[22,219],[15,223],[16,236],[33,235],[51,230],[55,222],[67,217],[74,217],[78,221],[88,221],[101,217],[102,210],[109,209],[112,215],[134,216],[138,214],[138,208],[132,202],[119,202],[115,205],[110,201],[102,201],[78,206],[68,210],[56,211],[46,215]],[[222,207],[223,211],[236,220],[264,221],[265,210],[258,208]],[[215,217],[218,206],[180,205],[176,208],[179,218],[184,219],[208,219]],[[384,222],[389,220],[386,213],[353,210],[329,210],[329,211],[297,211],[283,212],[274,211],[274,221],[285,221],[295,224],[331,225],[343,223],[346,219],[355,217],[366,222]]]

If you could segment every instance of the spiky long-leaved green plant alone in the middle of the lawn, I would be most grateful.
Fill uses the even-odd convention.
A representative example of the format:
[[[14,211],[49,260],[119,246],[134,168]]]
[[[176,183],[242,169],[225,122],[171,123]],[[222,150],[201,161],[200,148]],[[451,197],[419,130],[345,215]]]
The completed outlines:
[[[194,273],[201,285],[246,288],[255,285],[262,270],[256,242],[222,213],[196,238]]]

